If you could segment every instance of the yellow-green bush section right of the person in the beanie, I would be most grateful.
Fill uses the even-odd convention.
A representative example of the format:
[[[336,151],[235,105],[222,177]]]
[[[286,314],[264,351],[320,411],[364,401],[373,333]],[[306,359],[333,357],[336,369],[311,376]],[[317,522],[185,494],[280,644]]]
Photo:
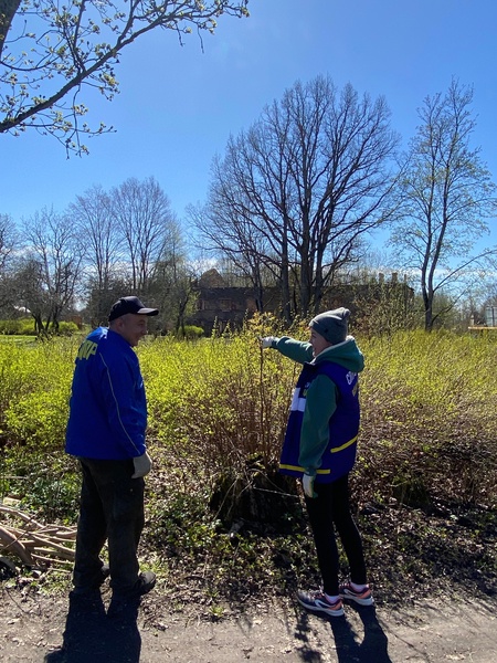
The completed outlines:
[[[408,502],[494,501],[496,339],[415,330],[361,347],[361,478]]]

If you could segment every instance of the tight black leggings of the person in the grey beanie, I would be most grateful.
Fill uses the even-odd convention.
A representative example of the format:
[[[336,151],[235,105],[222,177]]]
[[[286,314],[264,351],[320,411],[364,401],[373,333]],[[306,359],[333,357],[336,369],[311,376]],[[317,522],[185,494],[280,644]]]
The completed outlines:
[[[339,557],[335,528],[349,561],[350,579],[366,585],[366,565],[362,540],[350,513],[349,476],[322,484],[315,483],[317,497],[306,496],[307,513],[316,544],[322,589],[327,594],[338,594]]]

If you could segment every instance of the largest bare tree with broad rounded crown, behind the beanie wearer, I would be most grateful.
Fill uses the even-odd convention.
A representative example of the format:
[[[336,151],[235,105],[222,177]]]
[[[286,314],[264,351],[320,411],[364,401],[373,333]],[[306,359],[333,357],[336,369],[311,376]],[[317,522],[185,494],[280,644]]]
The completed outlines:
[[[319,311],[363,233],[392,214],[389,116],[383,98],[318,76],[266,107],[213,165],[200,230],[245,261],[254,285],[262,265],[277,274],[287,320]]]

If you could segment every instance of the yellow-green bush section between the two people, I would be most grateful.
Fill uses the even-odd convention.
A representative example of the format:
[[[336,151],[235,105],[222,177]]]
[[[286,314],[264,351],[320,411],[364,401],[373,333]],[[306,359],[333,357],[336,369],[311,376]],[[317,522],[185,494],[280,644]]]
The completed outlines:
[[[200,457],[211,471],[250,456],[276,462],[294,367],[263,352],[252,332],[193,345],[166,337],[139,354],[155,444]]]

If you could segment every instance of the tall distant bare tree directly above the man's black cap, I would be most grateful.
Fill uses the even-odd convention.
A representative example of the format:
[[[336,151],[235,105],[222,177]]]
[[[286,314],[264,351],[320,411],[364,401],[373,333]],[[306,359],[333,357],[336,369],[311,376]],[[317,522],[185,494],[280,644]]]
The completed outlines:
[[[124,236],[133,292],[146,293],[175,224],[170,202],[154,177],[127,179],[110,191],[115,223]]]

